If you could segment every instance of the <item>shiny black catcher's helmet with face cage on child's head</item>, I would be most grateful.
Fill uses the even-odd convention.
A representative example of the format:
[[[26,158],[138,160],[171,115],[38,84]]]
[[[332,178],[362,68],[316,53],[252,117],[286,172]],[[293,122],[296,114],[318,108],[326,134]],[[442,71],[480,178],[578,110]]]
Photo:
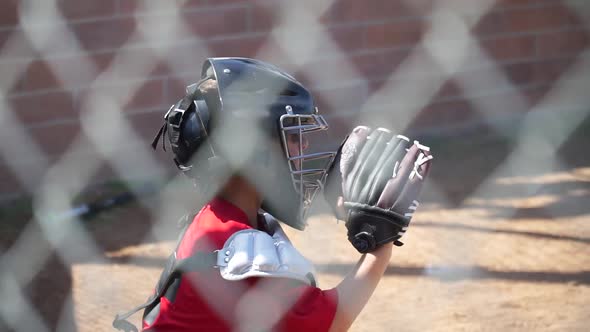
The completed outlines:
[[[212,173],[238,173],[262,194],[264,210],[305,227],[305,212],[335,152],[304,154],[307,137],[328,125],[292,76],[259,60],[207,59],[201,80],[187,87],[164,120],[152,146],[167,137],[176,165],[197,184]]]

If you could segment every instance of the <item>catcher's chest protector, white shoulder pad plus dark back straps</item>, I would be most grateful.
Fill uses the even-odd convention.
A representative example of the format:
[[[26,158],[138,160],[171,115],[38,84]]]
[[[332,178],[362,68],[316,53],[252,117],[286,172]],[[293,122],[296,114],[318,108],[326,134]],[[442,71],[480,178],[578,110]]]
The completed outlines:
[[[188,219],[187,216],[178,243],[190,224]],[[184,259],[177,259],[175,250],[168,257],[155,293],[145,303],[129,312],[117,314],[113,327],[121,331],[137,331],[127,318],[143,309],[144,320],[154,319],[159,311],[160,298],[165,296],[173,301],[182,274],[186,272],[218,268],[225,280],[242,280],[250,277],[289,278],[316,287],[315,271],[311,262],[295,249],[276,219],[264,213],[264,220],[270,234],[255,229],[239,231],[227,239],[223,248],[213,252],[197,252]]]

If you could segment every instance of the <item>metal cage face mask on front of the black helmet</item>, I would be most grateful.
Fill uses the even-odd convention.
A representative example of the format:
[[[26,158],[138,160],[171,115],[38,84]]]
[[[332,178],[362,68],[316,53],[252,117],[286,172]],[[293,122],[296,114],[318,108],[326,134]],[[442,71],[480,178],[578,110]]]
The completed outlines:
[[[324,186],[336,153],[322,149],[328,124],[321,115],[284,114],[280,118],[280,129],[293,187],[302,200],[301,220],[305,220],[313,198]]]

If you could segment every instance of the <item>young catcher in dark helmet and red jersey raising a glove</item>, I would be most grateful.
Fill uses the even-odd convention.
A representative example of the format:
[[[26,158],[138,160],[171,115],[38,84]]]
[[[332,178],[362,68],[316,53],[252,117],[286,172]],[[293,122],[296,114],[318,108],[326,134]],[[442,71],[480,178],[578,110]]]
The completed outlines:
[[[414,159],[417,151],[428,149],[417,142],[410,147],[407,138],[385,129],[357,127],[340,151],[321,151],[314,137],[328,125],[311,94],[262,61],[208,59],[201,78],[168,111],[153,146],[160,137],[164,148],[169,143],[178,168],[210,200],[189,218],[156,293],[138,308],[146,308],[143,329],[347,330],[383,276],[393,242],[405,231],[395,228],[383,237],[389,229],[375,223],[391,213],[381,204],[391,203],[386,202],[393,195],[387,180],[406,170],[425,175],[431,157],[420,153],[422,161]],[[400,166],[385,157],[400,153],[412,158]],[[277,220],[302,230],[330,167],[326,198],[347,220],[349,240],[364,255],[337,287],[321,290],[312,264]],[[367,184],[368,196],[359,187]],[[416,202],[417,188],[408,190],[404,204]],[[375,205],[377,199],[381,207],[365,204]]]

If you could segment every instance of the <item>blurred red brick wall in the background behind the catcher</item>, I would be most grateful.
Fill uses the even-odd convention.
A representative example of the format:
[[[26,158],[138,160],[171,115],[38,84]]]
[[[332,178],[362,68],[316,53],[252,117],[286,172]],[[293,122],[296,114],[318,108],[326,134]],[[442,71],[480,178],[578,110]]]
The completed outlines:
[[[57,9],[64,18],[61,24],[71,35],[50,36],[42,50],[27,34],[26,26],[43,31],[43,24],[55,23],[43,15],[19,17],[19,11],[28,7],[20,1],[4,1],[0,11],[0,89],[5,97],[2,108],[16,116],[42,155],[5,153],[0,159],[0,196],[24,190],[22,180],[14,177],[18,173],[15,165],[35,169],[39,157],[52,164],[71,148],[72,142],[85,137],[80,114],[92,94],[120,101],[121,111],[147,144],[160,124],[163,110],[181,96],[185,85],[197,80],[206,56],[258,56],[293,70],[316,93],[323,111],[337,124],[336,129],[344,131],[356,121],[360,109],[376,114],[375,119],[380,120],[393,121],[397,119],[393,113],[402,114],[407,126],[413,128],[477,122],[484,116],[482,105],[494,100],[525,101],[498,110],[499,115],[527,112],[589,46],[589,29],[584,24],[590,22],[581,18],[589,12],[584,11],[587,5],[572,10],[560,0],[484,1],[490,8],[477,20],[477,1],[448,2],[463,6],[457,12],[464,18],[461,22],[474,21],[469,31],[487,57],[468,54],[453,77],[434,85],[424,105],[414,105],[419,109],[406,115],[403,109],[395,113],[400,104],[403,108],[403,101],[365,101],[389,84],[407,89],[428,86],[438,79],[440,63],[421,52],[424,46],[419,44],[427,33],[437,33],[430,29],[436,19],[431,15],[434,1],[336,0],[328,8],[310,1],[311,12],[324,10],[319,19],[323,27],[320,33],[332,41],[321,39],[315,45],[306,44],[313,36],[298,33],[298,24],[300,30],[309,24],[304,16],[296,11],[287,15],[280,11],[288,1],[177,1],[182,4],[178,17],[188,34],[163,34],[156,45],[134,37],[136,29],[142,28],[137,18],[144,19],[142,22],[153,18],[162,24],[162,30],[167,18],[174,18],[170,9],[144,6],[157,5],[156,1],[59,0]],[[19,3],[24,7],[19,9]],[[271,33],[283,18],[292,25]],[[455,47],[452,35],[443,37],[441,43]],[[285,39],[287,44],[281,42]],[[147,72],[134,72],[134,64],[154,60],[154,49],[158,47],[167,52],[167,59],[173,58],[175,65],[156,57]],[[298,55],[303,52],[304,69],[299,67],[293,50]],[[121,63],[122,54],[127,61],[134,60]],[[410,59],[418,59],[421,70],[414,68],[401,75]],[[91,72],[86,70],[88,64],[93,67]],[[126,70],[129,67],[132,69]],[[107,78],[105,71],[109,72]],[[477,80],[482,77],[501,80]],[[481,84],[466,91],[465,82],[471,81]],[[125,91],[132,93],[119,95]],[[7,132],[0,135],[5,142],[20,144],[11,141],[14,137],[7,136]],[[97,174],[111,174],[108,163],[103,168],[107,170]],[[30,181],[43,181],[44,174],[36,170]]]

